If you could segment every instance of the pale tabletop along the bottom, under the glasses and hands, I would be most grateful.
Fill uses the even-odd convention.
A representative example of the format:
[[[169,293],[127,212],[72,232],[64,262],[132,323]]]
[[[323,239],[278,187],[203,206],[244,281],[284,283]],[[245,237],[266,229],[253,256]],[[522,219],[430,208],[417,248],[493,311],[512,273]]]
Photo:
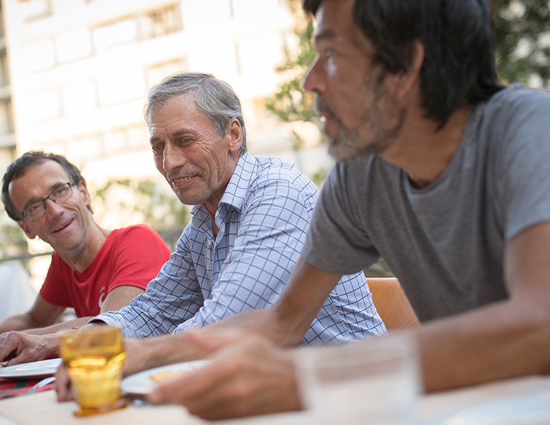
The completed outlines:
[[[523,411],[518,417],[507,415],[497,422],[478,425],[541,425],[550,424],[550,375],[503,380],[465,389],[423,395],[417,406],[415,425],[473,425],[469,413],[491,412],[500,407],[524,406],[525,400],[548,400],[546,408]],[[497,411],[502,411],[500,407]],[[23,395],[0,401],[0,425],[193,425],[212,424],[193,417],[179,406],[129,406],[103,415],[77,418],[76,403],[57,403],[54,391]],[[520,409],[522,410],[522,409]],[[467,419],[468,422],[464,422]],[[509,420],[508,420],[509,419]],[[504,422],[503,422],[504,420]],[[223,425],[314,425],[307,411],[264,415],[220,421]]]

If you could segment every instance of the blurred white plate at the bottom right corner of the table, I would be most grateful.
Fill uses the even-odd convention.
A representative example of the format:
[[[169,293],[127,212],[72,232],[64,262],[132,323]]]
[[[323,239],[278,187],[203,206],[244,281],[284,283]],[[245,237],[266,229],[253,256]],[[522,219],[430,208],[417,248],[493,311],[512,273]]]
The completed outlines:
[[[468,408],[444,422],[444,425],[517,424],[550,424],[550,391],[483,403]]]

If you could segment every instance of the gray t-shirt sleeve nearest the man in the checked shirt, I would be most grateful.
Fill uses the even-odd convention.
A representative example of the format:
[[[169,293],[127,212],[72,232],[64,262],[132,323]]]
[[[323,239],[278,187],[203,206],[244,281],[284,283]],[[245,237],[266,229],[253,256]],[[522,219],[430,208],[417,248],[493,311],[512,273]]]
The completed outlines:
[[[366,232],[357,196],[347,183],[349,175],[360,172],[360,167],[333,166],[307,232],[302,257],[329,273],[357,273],[380,258]]]

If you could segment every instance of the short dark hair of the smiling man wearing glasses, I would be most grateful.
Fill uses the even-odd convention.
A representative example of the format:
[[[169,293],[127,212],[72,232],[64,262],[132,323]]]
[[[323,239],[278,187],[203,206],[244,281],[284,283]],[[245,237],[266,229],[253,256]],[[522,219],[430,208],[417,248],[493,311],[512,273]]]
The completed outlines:
[[[8,166],[8,169],[5,171],[4,177],[2,178],[2,201],[4,203],[5,212],[8,212],[11,219],[19,221],[22,217],[21,214],[14,208],[12,201],[10,200],[10,183],[14,179],[24,175],[31,166],[43,164],[47,160],[55,161],[60,164],[67,172],[72,184],[78,184],[84,180],[84,177],[80,174],[80,170],[76,168],[74,164],[70,163],[63,155],[46,153],[43,151],[29,151],[27,153],[23,153],[23,155]],[[88,208],[91,211],[89,206]]]

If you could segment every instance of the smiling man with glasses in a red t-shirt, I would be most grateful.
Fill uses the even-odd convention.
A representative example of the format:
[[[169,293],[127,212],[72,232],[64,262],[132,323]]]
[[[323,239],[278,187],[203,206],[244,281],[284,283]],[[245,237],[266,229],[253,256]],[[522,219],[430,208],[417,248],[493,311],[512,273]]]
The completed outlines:
[[[2,201],[25,235],[40,237],[54,254],[32,308],[2,320],[0,334],[25,329],[51,334],[85,325],[142,294],[170,257],[147,226],[112,231],[98,226],[84,178],[61,155],[31,151],[14,161],[3,177]],[[78,318],[56,324],[65,307],[74,307]]]

